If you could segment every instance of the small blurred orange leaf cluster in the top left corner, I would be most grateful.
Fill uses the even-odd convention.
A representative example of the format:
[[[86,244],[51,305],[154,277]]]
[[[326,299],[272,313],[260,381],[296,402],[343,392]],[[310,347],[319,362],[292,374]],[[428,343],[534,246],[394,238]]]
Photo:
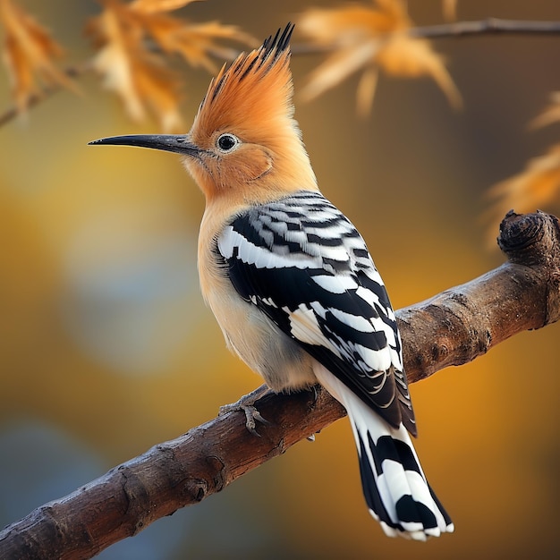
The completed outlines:
[[[4,63],[20,112],[33,96],[41,95],[41,86],[76,90],[72,80],[53,63],[63,50],[44,27],[11,0],[0,0],[0,21],[5,29]]]

